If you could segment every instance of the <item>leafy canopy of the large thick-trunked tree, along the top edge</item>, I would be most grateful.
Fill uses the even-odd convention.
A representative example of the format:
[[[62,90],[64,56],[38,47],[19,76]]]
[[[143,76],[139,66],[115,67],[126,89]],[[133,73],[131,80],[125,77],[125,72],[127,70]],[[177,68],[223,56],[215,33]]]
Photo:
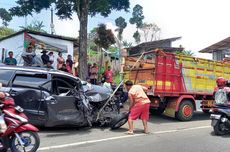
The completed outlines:
[[[32,15],[33,12],[40,13],[43,9],[48,9],[52,4],[56,7],[56,15],[62,19],[72,19],[73,13],[78,13],[87,3],[89,15],[100,14],[107,17],[113,10],[128,11],[129,0],[17,0],[18,6],[12,7],[10,12],[16,16]]]

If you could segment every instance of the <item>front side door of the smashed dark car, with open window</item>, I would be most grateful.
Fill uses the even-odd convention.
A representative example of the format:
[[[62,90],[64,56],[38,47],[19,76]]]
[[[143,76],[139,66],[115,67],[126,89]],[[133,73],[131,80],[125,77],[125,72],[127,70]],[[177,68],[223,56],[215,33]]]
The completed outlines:
[[[48,120],[47,126],[77,125],[87,123],[82,109],[77,107],[77,101],[72,94],[66,94],[74,89],[76,81],[70,77],[52,76],[52,95],[46,100]]]

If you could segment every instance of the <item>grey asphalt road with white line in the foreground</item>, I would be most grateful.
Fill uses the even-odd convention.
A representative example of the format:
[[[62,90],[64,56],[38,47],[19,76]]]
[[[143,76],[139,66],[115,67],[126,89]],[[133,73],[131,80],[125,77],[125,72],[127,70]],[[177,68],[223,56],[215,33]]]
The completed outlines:
[[[164,116],[151,116],[151,134],[142,133],[141,121],[135,122],[135,135],[125,135],[127,125],[109,128],[42,128],[41,152],[229,152],[230,135],[213,134],[209,115],[195,113],[189,122]]]

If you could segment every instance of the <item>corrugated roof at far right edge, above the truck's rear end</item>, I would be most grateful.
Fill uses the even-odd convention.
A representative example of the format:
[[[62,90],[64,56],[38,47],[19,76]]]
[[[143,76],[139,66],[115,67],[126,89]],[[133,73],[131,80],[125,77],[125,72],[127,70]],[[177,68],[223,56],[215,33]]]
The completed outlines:
[[[212,53],[213,51],[223,51],[223,50],[227,50],[230,49],[230,37],[217,42],[209,47],[206,47],[202,50],[200,50],[199,52],[201,53]]]

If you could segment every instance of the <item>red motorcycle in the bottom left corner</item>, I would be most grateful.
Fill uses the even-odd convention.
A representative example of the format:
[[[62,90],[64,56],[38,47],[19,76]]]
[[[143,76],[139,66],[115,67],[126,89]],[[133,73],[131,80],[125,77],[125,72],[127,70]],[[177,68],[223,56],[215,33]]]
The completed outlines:
[[[0,134],[0,151],[12,152],[35,152],[40,145],[37,134],[38,129],[28,123],[27,116],[23,109],[15,106],[14,100],[5,97],[0,103],[1,115],[7,126],[6,130]]]

